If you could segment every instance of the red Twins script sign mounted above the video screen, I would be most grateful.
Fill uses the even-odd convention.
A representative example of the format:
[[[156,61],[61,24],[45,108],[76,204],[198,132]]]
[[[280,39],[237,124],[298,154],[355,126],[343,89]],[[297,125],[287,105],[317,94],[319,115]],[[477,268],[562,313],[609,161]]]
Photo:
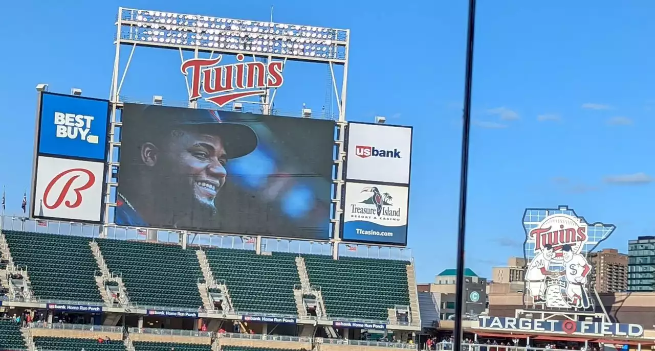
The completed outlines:
[[[238,63],[219,65],[222,59],[221,55],[214,59],[187,59],[182,63],[182,74],[191,76],[189,101],[206,95],[205,100],[223,107],[237,99],[264,95],[267,88],[280,88],[284,82],[282,61],[244,62],[245,56],[238,54]]]

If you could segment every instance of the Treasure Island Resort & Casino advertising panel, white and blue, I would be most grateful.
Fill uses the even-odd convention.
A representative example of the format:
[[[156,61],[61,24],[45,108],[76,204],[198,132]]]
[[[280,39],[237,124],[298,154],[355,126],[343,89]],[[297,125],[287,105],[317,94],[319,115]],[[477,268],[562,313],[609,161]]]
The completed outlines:
[[[371,183],[346,183],[343,235],[345,241],[407,244],[409,188]]]

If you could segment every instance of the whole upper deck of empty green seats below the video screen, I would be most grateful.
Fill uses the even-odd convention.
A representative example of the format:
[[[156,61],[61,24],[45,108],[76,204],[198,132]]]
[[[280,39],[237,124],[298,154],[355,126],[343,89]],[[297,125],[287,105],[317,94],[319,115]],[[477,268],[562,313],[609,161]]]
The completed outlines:
[[[327,335],[421,329],[411,261],[37,233],[55,224],[32,223],[0,232],[5,306],[102,313],[105,325],[130,314],[317,324]]]

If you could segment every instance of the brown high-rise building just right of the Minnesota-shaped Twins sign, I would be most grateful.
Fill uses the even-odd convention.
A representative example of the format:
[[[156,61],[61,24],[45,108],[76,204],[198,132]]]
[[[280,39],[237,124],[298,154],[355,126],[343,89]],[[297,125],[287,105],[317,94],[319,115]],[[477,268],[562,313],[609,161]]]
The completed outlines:
[[[604,248],[587,256],[593,269],[589,283],[599,293],[625,292],[627,290],[627,255],[615,248]]]

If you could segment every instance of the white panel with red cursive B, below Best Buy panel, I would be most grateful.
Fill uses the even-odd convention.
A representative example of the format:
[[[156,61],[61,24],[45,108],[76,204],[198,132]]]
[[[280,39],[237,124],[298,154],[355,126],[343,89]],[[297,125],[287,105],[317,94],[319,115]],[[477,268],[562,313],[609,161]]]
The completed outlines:
[[[104,169],[101,162],[39,156],[33,216],[99,222]]]

